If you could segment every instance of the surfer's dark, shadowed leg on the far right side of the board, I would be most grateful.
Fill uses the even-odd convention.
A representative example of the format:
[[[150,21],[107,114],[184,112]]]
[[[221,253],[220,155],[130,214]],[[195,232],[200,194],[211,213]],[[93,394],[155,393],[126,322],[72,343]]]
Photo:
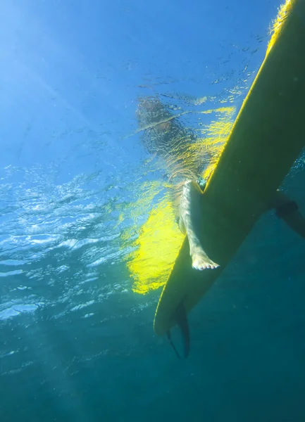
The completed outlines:
[[[275,208],[276,215],[283,219],[292,230],[305,238],[305,218],[299,212],[297,203],[290,200],[284,192],[276,191],[270,207]]]

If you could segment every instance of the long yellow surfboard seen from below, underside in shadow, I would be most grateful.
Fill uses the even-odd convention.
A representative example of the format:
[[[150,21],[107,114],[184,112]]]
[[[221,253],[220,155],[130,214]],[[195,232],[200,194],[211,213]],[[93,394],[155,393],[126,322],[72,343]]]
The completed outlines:
[[[206,293],[266,210],[305,146],[305,0],[287,1],[266,58],[204,190],[201,242],[218,269],[192,269],[187,238],[163,288],[158,335]]]

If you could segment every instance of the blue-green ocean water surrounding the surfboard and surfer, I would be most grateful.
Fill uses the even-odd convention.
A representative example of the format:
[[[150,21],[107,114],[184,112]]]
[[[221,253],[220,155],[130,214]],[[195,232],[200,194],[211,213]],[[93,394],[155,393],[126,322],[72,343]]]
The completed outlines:
[[[1,422],[305,420],[305,243],[274,213],[189,315],[185,361],[127,269],[163,178],[138,98],[238,110],[279,6],[2,2]],[[301,158],[283,187],[305,212],[304,183]]]

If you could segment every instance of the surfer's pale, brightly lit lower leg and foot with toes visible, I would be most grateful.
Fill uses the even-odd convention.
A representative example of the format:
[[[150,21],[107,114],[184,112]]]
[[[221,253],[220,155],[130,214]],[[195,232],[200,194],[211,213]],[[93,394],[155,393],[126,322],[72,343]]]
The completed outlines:
[[[189,254],[192,257],[192,267],[195,269],[217,268],[216,262],[210,260],[199,241],[201,227],[202,191],[196,181],[188,180],[182,189],[180,199],[180,228],[185,229],[189,239]]]

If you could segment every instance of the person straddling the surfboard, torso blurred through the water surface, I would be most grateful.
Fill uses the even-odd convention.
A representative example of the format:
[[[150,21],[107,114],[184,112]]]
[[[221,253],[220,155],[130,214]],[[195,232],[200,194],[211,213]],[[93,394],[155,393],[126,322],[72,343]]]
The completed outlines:
[[[173,182],[173,203],[176,205],[180,230],[189,241],[192,267],[199,270],[216,269],[218,263],[208,257],[199,241],[201,200],[205,185],[201,174],[205,162],[202,154],[192,148],[196,146],[196,136],[190,129],[182,127],[172,111],[156,97],[140,98],[136,114],[139,128],[144,131],[144,147],[149,153],[164,160],[168,180]],[[209,158],[205,159],[208,161]],[[266,210],[271,208],[297,234],[305,238],[305,219],[297,203],[285,193],[277,191],[270,203],[266,204]]]

